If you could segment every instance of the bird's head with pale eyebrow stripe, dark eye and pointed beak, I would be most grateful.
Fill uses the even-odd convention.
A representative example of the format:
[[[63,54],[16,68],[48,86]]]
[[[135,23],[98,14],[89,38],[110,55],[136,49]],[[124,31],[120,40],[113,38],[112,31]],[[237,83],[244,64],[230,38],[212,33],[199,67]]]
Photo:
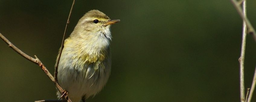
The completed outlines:
[[[107,38],[111,40],[110,25],[120,20],[111,20],[99,10],[90,10],[78,21],[72,35],[82,38]]]

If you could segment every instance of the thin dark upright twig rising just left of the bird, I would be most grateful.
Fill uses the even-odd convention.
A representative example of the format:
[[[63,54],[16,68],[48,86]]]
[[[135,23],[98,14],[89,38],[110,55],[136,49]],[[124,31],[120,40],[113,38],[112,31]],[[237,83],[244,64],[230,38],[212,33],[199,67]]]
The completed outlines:
[[[57,58],[56,64],[55,64],[54,78],[55,78],[56,82],[58,82],[57,76],[58,76],[59,59],[60,59],[62,50],[63,50],[63,48],[64,48],[64,40],[65,40],[65,38],[66,38],[66,33],[67,33],[68,26],[69,26],[69,22],[70,22],[70,21],[69,21],[69,18],[70,18],[70,16],[71,16],[71,13],[72,13],[74,4],[75,4],[75,0],[73,0],[73,4],[72,4],[71,9],[70,9],[70,12],[69,12],[69,17],[68,17],[68,20],[67,20],[67,23],[66,23],[64,35],[63,35],[63,38],[62,38],[61,47],[60,47],[60,49],[59,49],[59,55],[58,55],[58,58]]]

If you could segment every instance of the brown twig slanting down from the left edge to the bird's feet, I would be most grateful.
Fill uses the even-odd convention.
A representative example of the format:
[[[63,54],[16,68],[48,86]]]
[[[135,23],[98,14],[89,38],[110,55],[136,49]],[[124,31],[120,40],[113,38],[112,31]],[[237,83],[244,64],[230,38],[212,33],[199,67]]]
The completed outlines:
[[[4,35],[2,35],[0,33],[0,38],[2,38],[6,44],[8,44],[9,47],[11,47],[14,51],[16,51],[18,54],[20,54],[21,56],[23,56],[24,58],[26,58],[27,60],[39,65],[41,67],[41,69],[43,70],[43,72],[53,81],[53,83],[55,84],[56,88],[59,90],[60,93],[62,93],[63,89],[59,86],[59,84],[55,81],[54,77],[52,76],[52,74],[46,69],[46,67],[43,65],[43,63],[37,58],[37,56],[35,56],[35,58],[30,57],[29,55],[25,54],[24,52],[22,52],[20,49],[18,49],[16,46],[14,46],[7,38],[5,38]],[[72,102],[69,98],[68,98],[68,102]]]

